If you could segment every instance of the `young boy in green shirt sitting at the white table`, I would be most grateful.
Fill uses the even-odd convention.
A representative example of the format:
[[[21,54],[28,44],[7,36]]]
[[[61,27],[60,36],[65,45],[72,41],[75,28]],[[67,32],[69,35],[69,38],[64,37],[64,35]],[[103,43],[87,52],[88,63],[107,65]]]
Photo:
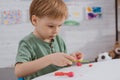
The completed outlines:
[[[67,7],[62,0],[32,0],[30,20],[34,31],[19,43],[15,65],[17,77],[31,80],[72,65],[71,60],[76,56],[82,58],[79,52],[66,54],[65,43],[58,36],[67,16]]]

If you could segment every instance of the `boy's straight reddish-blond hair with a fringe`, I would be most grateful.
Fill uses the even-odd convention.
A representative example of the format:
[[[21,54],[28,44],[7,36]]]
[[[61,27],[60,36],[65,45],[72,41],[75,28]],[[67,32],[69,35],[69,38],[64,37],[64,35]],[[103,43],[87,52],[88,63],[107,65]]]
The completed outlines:
[[[63,0],[32,0],[29,13],[30,20],[32,15],[39,18],[47,16],[52,19],[68,17],[67,6]]]

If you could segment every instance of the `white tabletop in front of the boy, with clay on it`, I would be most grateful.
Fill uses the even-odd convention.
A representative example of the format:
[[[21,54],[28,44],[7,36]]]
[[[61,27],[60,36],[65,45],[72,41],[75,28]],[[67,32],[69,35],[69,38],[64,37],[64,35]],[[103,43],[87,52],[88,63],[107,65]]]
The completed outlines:
[[[89,67],[92,64],[92,67]],[[74,72],[74,77],[55,76],[49,73],[33,80],[120,80],[120,59],[71,66],[60,69],[62,72]]]

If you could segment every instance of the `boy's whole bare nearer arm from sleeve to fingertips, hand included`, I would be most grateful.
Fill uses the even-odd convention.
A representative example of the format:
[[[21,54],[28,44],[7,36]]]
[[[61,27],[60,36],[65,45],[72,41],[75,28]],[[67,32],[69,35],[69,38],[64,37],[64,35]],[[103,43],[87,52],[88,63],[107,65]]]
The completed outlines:
[[[17,63],[15,66],[15,74],[17,77],[24,77],[30,75],[38,70],[47,67],[50,64],[56,66],[72,65],[71,60],[75,60],[74,57],[65,53],[53,53],[34,61]]]

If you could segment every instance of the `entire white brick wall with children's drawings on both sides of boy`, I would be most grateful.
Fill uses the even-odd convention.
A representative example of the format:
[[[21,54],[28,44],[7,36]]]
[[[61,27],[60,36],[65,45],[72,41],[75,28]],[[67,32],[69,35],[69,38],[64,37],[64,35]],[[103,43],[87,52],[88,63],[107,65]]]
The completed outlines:
[[[29,21],[32,0],[0,0],[0,80],[17,80],[14,75],[19,41],[33,31]],[[81,51],[94,61],[98,54],[111,50],[116,42],[115,0],[64,0],[69,17],[61,35],[68,53]],[[118,34],[120,0],[118,0]],[[120,35],[118,35],[119,38]]]

